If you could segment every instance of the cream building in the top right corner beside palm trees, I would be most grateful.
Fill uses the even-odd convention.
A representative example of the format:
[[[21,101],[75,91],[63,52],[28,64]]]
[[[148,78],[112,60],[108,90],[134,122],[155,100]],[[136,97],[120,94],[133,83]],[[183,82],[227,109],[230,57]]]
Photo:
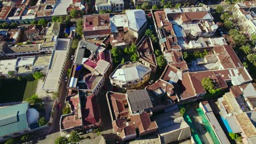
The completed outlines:
[[[246,33],[256,33],[256,2],[237,2],[232,9],[232,13],[237,17],[238,23],[243,26]]]

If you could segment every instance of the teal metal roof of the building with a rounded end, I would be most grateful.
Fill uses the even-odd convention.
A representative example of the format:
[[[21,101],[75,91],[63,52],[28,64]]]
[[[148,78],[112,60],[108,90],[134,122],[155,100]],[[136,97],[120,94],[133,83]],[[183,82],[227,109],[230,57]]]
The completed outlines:
[[[28,103],[22,103],[0,109],[0,136],[30,129],[27,125],[27,109]]]

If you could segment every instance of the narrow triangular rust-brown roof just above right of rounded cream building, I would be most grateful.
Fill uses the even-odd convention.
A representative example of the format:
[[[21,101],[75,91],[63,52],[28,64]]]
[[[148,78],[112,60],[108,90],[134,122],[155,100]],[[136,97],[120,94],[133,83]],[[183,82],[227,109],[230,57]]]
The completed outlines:
[[[156,58],[150,38],[145,38],[137,45],[139,57],[150,64],[157,65]]]

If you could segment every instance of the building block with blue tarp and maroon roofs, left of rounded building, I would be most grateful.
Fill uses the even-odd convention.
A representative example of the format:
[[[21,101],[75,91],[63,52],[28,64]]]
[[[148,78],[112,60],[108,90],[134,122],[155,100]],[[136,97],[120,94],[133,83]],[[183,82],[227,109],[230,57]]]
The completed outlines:
[[[67,88],[79,89],[91,95],[98,94],[111,69],[110,52],[101,46],[82,40],[75,51]]]

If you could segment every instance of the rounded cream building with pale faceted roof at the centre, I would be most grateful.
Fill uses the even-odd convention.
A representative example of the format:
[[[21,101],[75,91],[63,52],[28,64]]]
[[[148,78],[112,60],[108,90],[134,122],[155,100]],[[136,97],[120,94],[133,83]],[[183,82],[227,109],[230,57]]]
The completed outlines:
[[[109,76],[109,79],[113,86],[132,89],[147,82],[151,71],[151,68],[145,67],[141,63],[126,62],[125,64],[119,64]]]

